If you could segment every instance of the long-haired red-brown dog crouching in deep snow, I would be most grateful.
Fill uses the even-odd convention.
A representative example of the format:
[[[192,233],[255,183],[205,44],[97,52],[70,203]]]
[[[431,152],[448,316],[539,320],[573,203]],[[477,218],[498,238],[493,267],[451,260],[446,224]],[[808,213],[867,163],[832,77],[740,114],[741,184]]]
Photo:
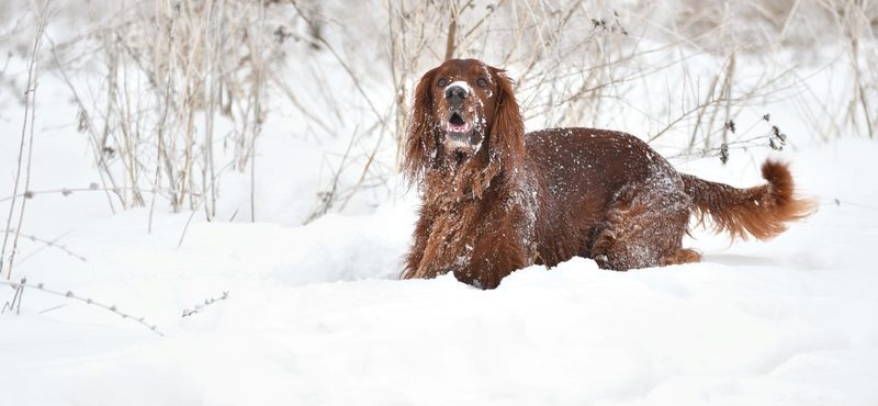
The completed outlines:
[[[735,189],[677,172],[629,134],[525,134],[509,79],[474,59],[420,79],[404,166],[423,206],[403,278],[454,272],[483,289],[574,256],[620,271],[697,262],[682,246],[691,214],[733,237],[767,239],[811,210],[783,163],[763,165],[767,184]]]

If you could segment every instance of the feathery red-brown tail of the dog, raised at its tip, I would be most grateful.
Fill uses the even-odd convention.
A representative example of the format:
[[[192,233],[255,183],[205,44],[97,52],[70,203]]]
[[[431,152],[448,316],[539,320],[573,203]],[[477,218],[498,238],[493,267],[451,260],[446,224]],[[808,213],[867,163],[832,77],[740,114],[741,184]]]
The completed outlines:
[[[750,189],[682,176],[699,224],[710,215],[713,229],[732,238],[773,238],[787,229],[788,222],[811,215],[815,207],[814,202],[795,195],[787,165],[772,160],[762,166],[762,177],[768,183]]]

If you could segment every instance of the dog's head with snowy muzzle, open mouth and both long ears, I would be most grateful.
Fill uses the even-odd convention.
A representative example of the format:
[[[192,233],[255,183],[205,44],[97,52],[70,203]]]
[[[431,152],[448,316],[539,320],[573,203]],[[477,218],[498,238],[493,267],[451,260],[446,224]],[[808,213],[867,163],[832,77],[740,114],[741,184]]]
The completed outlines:
[[[424,74],[407,131],[409,178],[430,168],[499,168],[522,154],[524,123],[504,70],[451,59]]]

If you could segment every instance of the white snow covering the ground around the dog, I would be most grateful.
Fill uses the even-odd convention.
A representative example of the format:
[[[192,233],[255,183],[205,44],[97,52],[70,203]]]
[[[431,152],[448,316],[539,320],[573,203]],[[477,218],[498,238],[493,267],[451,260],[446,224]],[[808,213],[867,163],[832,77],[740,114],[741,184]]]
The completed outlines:
[[[77,109],[57,78],[41,80],[32,189],[87,188],[97,172]],[[3,199],[23,114],[0,99]],[[772,241],[695,229],[685,246],[700,263],[612,272],[574,258],[481,291],[397,279],[418,204],[401,179],[302,225],[322,154],[348,140],[283,124],[259,140],[258,172],[271,176],[256,187],[257,223],[225,221],[246,211],[245,176],[223,180],[219,221],[164,206],[151,233],[148,207],[112,214],[102,192],[30,200],[23,230],[87,260],[23,237],[15,280],[115,305],[162,336],[26,287],[21,314],[0,315],[0,405],[878,404],[875,142],[811,134],[728,166],[673,161],[738,187],[762,182],[766,156],[791,162],[820,210]],[[13,293],[0,285],[0,305]]]

